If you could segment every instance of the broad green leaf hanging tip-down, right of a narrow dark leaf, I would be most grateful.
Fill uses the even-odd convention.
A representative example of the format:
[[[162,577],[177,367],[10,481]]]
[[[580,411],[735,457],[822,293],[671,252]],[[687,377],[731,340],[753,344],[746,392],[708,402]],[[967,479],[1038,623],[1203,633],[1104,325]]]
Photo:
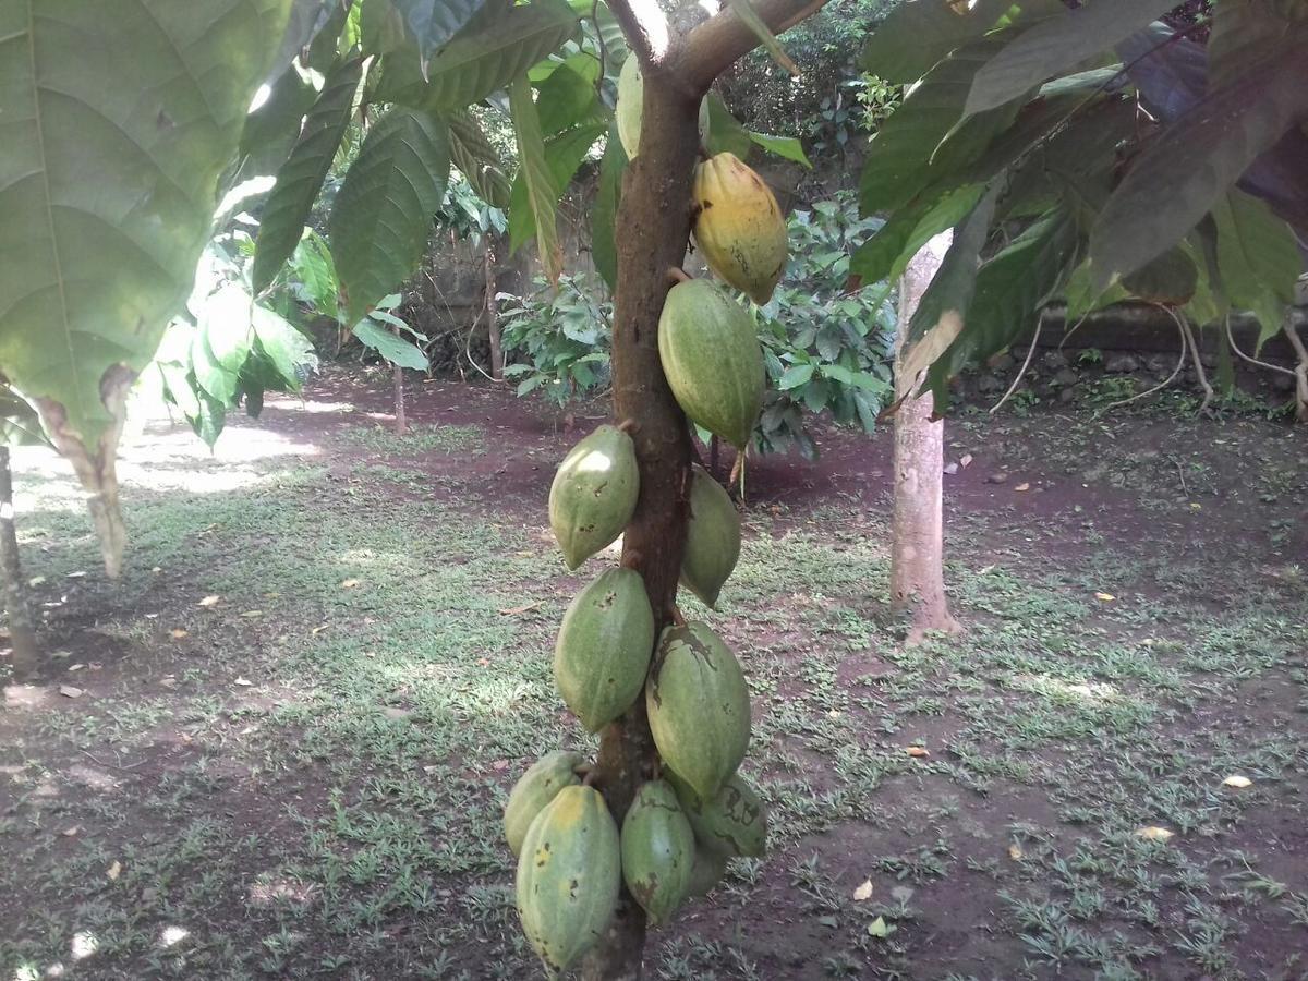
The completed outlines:
[[[398,107],[369,129],[327,222],[347,322],[413,272],[449,177],[450,136],[439,119]]]

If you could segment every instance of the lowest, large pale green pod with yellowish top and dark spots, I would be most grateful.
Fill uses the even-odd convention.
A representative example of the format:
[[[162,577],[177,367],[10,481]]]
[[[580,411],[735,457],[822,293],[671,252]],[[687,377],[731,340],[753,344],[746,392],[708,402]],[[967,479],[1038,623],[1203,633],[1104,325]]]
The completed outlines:
[[[603,937],[621,886],[617,825],[599,791],[560,790],[527,829],[518,855],[518,917],[532,950],[566,971]]]

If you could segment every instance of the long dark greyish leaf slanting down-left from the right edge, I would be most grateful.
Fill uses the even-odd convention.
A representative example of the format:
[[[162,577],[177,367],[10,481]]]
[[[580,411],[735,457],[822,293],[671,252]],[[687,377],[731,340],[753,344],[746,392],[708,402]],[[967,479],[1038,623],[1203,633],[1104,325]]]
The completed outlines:
[[[1249,164],[1308,114],[1304,44],[1308,25],[1295,25],[1144,145],[1091,233],[1100,285],[1180,242]]]

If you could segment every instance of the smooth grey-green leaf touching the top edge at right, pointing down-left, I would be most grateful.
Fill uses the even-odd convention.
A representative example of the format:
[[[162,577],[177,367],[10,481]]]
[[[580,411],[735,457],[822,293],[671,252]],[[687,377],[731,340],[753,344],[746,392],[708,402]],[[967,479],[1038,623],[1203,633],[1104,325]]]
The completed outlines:
[[[1041,21],[976,73],[964,115],[1019,98],[1032,86],[1108,51],[1175,5],[1175,0],[1093,0]]]

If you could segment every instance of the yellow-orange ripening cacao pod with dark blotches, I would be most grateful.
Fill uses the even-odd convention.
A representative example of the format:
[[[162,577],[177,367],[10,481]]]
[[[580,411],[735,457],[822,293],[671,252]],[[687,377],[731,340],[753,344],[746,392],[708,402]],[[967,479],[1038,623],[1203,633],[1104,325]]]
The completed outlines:
[[[786,218],[752,167],[715,153],[695,169],[695,245],[718,276],[759,306],[786,271]]]

